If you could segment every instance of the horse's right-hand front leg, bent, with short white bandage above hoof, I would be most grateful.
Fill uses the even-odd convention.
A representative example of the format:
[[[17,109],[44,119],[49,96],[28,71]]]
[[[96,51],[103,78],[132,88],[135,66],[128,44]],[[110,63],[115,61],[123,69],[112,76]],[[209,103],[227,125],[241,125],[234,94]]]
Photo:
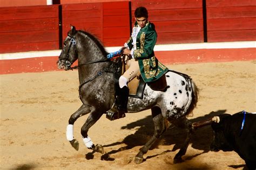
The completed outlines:
[[[84,125],[81,128],[81,134],[83,137],[84,144],[87,148],[92,149],[93,151],[104,153],[104,149],[101,145],[94,145],[91,138],[88,136],[87,132],[89,131],[89,128],[92,127],[99,118],[103,115],[103,113],[100,113],[98,111],[91,111],[91,114],[85,121]]]

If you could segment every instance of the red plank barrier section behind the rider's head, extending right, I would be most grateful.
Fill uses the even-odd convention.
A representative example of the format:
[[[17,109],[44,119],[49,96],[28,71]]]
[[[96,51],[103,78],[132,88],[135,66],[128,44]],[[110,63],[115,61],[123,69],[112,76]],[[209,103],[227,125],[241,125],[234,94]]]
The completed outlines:
[[[157,44],[204,42],[203,4],[198,0],[154,1],[132,0],[132,23],[134,11],[145,6],[149,21],[158,33]]]

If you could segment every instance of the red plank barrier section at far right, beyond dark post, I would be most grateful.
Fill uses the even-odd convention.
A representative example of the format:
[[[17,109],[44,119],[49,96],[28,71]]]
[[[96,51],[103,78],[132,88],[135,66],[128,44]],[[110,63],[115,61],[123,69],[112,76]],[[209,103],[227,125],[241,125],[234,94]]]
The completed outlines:
[[[256,0],[207,0],[208,42],[256,39]]]

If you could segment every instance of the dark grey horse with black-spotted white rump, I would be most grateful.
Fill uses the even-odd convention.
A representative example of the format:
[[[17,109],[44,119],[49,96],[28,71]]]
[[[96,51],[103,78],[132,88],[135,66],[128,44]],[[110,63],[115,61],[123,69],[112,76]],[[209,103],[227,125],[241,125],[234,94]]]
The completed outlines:
[[[79,98],[82,106],[70,116],[66,127],[66,138],[77,150],[79,143],[73,137],[73,125],[78,118],[89,114],[81,127],[83,142],[88,149],[104,154],[102,145],[93,144],[87,132],[114,103],[114,76],[111,71],[113,61],[107,59],[107,54],[100,40],[89,32],[76,30],[75,26],[71,25],[57,66],[58,69],[64,70],[78,67]],[[76,60],[78,66],[71,67]],[[191,114],[197,105],[198,88],[186,74],[169,71],[164,76],[167,82],[166,91],[154,91],[146,85],[142,99],[129,97],[127,113],[151,109],[154,123],[152,137],[139,149],[134,158],[136,164],[143,162],[143,155],[171,124],[184,128],[186,132],[186,139],[174,157],[174,162],[182,161],[181,156],[185,155],[190,142],[193,127],[187,115]]]

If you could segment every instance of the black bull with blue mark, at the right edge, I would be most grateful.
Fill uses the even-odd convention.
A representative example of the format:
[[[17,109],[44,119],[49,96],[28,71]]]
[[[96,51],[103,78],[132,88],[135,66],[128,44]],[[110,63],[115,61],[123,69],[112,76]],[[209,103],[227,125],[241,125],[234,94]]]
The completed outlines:
[[[211,124],[211,151],[235,151],[249,169],[256,169],[256,114],[239,112],[194,123],[194,127]]]

